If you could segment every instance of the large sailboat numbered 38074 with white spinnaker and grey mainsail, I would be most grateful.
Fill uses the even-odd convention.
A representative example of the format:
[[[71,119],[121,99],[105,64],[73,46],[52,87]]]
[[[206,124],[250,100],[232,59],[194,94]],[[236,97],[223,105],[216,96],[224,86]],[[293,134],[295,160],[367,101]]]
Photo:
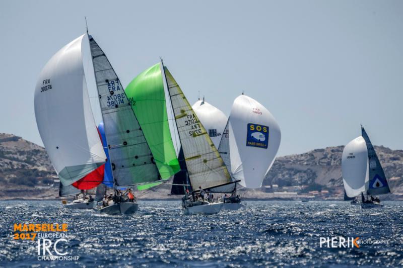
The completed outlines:
[[[84,68],[86,49],[90,50],[92,73]],[[87,78],[91,75],[95,76],[110,157],[104,152],[90,104]],[[35,116],[63,187],[94,188],[102,183],[106,164],[112,170],[116,194],[117,187],[160,180],[120,80],[88,31],[60,49],[43,68],[35,88]],[[118,201],[101,213],[137,210],[137,203]]]

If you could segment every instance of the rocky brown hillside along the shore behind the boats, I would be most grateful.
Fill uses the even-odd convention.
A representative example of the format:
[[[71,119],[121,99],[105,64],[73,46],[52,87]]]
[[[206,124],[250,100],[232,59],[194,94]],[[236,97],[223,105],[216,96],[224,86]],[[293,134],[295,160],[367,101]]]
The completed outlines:
[[[258,190],[239,189],[244,198],[342,199],[341,156],[344,146],[315,149],[278,157]],[[403,150],[375,146],[393,194],[384,199],[403,199]],[[11,134],[0,133],[0,199],[55,198],[56,173],[46,150]],[[278,187],[277,187],[278,186]],[[141,199],[168,199],[169,185],[138,193]],[[311,191],[328,192],[314,195]]]

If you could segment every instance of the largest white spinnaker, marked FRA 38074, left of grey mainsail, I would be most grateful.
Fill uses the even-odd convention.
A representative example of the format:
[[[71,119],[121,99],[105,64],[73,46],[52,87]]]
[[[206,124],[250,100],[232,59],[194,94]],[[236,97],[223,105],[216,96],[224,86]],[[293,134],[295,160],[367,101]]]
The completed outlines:
[[[53,55],[35,87],[38,130],[64,186],[80,180],[106,159],[87,92],[83,36]]]

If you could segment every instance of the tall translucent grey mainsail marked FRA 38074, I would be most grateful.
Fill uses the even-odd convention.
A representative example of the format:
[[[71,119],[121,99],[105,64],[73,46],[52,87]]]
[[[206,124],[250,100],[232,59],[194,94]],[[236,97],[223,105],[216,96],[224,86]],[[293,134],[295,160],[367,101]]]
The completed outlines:
[[[129,186],[158,181],[154,157],[120,80],[95,40],[89,39],[115,183]]]

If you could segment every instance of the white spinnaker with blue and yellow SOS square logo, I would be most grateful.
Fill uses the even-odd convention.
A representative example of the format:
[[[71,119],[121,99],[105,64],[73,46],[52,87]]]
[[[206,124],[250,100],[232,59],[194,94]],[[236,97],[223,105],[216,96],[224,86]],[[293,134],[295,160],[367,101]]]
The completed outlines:
[[[252,125],[253,131],[248,131]],[[229,118],[231,172],[235,180],[246,188],[260,188],[276,158],[280,140],[280,127],[263,105],[245,95],[235,99]]]

